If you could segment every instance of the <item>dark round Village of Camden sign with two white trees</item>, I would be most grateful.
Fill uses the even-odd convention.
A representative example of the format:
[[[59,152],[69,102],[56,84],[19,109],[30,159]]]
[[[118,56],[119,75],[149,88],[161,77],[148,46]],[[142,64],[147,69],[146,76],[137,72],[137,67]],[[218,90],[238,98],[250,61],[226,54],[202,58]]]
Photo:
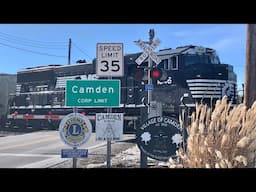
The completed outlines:
[[[152,117],[137,129],[137,144],[147,156],[168,161],[170,157],[176,156],[176,150],[182,146],[182,132],[176,119]]]

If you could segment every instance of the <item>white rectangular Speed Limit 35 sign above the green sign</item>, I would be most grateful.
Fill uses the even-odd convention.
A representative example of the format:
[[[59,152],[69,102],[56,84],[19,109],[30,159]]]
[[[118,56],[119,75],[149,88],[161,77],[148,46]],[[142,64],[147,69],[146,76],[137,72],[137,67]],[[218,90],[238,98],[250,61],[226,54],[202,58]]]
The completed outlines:
[[[99,77],[124,76],[123,43],[97,43],[96,74]]]

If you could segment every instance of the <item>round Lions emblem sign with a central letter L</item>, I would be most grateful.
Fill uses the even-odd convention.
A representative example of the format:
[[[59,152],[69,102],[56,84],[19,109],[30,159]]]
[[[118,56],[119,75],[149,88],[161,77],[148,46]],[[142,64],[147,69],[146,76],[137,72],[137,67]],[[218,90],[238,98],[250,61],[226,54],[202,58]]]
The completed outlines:
[[[90,120],[80,113],[66,115],[59,125],[60,137],[69,146],[80,146],[89,139],[92,132]]]

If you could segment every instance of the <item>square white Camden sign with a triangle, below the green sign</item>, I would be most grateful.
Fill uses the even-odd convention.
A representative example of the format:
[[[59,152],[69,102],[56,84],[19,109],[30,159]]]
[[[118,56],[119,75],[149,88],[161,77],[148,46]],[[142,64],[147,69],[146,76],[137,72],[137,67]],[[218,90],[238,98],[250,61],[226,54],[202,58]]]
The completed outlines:
[[[123,113],[96,113],[96,140],[121,140],[123,123]]]

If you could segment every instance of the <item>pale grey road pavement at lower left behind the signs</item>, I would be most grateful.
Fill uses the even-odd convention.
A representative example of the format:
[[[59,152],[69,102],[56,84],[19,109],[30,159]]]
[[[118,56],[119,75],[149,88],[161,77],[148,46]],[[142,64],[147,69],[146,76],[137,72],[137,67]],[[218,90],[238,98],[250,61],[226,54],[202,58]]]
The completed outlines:
[[[131,138],[125,135],[124,140]],[[106,145],[95,141],[92,133],[86,144],[79,148],[91,150]],[[63,143],[58,131],[40,131],[23,135],[0,137],[0,168],[46,168],[67,161],[61,158],[61,149],[71,149]]]

